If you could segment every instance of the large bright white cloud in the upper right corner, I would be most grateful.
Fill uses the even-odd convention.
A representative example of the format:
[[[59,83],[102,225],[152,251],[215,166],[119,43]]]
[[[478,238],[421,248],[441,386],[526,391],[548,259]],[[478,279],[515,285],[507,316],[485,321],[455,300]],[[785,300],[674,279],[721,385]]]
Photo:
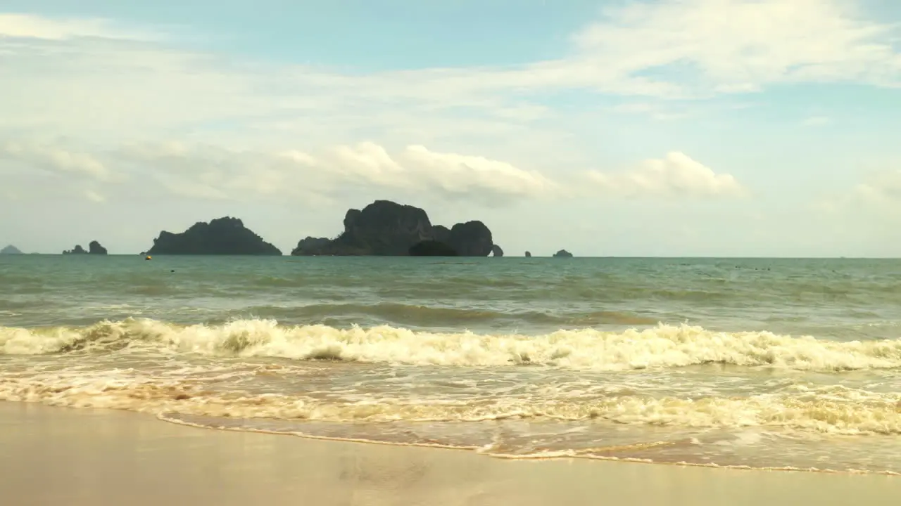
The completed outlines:
[[[575,36],[621,77],[656,70],[696,91],[743,93],[781,82],[896,86],[897,27],[845,0],[630,2]]]

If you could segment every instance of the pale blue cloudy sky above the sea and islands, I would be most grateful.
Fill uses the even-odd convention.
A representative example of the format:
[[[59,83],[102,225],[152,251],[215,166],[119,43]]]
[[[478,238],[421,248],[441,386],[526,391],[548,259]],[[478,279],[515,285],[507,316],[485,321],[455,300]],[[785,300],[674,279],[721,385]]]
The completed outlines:
[[[287,253],[377,199],[508,256],[901,257],[901,2],[0,1],[0,246]]]

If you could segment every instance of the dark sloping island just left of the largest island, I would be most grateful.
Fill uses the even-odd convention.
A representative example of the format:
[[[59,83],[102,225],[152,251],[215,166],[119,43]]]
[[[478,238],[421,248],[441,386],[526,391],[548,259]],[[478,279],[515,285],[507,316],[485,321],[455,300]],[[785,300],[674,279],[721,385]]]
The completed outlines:
[[[181,233],[166,230],[153,239],[147,255],[281,255],[281,251],[244,227],[238,218],[226,216],[209,223],[197,221]]]

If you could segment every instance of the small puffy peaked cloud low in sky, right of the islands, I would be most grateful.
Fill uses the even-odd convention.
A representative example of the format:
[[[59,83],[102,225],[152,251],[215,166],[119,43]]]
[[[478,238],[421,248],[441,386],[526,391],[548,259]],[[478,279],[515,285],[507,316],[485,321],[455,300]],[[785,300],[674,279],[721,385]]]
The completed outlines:
[[[587,177],[603,194],[620,197],[722,197],[747,193],[733,176],[716,174],[678,151],[668,153],[666,158],[645,160],[625,172],[589,171]]]

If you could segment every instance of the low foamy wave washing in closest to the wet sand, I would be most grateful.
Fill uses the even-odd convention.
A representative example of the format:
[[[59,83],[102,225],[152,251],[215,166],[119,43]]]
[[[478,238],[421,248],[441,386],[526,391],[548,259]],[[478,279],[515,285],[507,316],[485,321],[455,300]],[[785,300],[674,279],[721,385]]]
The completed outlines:
[[[341,402],[287,393],[217,392],[214,384],[131,371],[57,371],[5,375],[0,400],[43,402],[154,414],[327,422],[608,421],[617,424],[716,429],[765,427],[820,434],[901,434],[901,394],[842,386],[796,385],[747,397],[593,398],[490,396],[481,399],[396,397]]]

